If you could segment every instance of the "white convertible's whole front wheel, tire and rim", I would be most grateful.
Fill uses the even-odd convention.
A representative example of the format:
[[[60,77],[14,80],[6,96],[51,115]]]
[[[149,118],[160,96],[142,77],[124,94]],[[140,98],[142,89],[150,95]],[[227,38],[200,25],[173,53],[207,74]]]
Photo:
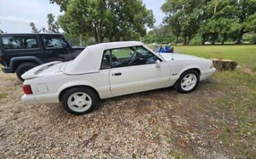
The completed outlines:
[[[190,93],[196,89],[199,84],[199,73],[195,70],[185,71],[179,77],[176,84],[174,84],[174,88],[179,93]]]

